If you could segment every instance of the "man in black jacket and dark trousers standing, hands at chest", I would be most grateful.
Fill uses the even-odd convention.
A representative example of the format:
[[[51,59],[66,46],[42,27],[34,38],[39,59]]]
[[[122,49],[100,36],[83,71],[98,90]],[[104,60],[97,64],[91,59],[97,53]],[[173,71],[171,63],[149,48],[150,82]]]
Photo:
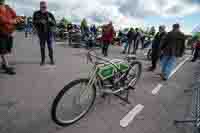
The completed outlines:
[[[47,43],[49,50],[50,64],[54,65],[53,56],[53,30],[56,26],[56,20],[52,13],[47,11],[47,3],[45,1],[40,2],[40,10],[33,14],[33,25],[36,28],[39,40],[40,40],[40,51],[41,51],[41,63],[45,64],[45,46]]]

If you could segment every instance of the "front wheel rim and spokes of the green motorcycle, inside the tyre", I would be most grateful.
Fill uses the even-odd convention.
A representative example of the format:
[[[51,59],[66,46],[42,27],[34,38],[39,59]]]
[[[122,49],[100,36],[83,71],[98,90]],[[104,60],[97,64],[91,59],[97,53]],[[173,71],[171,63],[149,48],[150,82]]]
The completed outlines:
[[[94,89],[86,87],[87,82],[79,83],[65,93],[56,108],[58,121],[73,123],[87,113],[94,100]]]

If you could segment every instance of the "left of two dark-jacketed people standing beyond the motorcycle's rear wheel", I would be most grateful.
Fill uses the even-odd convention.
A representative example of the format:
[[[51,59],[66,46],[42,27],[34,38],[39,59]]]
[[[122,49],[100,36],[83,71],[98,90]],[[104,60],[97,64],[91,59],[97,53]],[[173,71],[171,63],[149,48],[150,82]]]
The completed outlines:
[[[131,46],[133,44],[133,40],[134,40],[134,36],[135,36],[135,32],[134,29],[131,28],[127,34],[127,38],[128,38],[128,54],[130,54],[130,50],[131,50]],[[123,54],[126,54],[127,51],[127,47],[124,49]]]

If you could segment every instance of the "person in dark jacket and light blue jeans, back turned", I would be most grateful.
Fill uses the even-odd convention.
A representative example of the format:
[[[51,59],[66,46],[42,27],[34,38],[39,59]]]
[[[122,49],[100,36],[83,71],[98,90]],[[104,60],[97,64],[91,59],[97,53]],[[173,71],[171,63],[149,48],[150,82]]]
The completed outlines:
[[[180,31],[180,25],[174,24],[161,44],[161,78],[168,80],[176,66],[176,58],[182,57],[185,50],[185,35]]]

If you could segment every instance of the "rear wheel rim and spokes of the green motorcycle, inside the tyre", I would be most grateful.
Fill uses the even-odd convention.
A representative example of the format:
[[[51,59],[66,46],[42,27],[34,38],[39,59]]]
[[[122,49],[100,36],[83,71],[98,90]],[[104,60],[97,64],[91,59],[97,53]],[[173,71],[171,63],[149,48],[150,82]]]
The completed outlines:
[[[138,77],[140,76],[140,66],[139,64],[135,64],[131,67],[127,75],[127,83],[129,86],[134,87],[138,81]]]

